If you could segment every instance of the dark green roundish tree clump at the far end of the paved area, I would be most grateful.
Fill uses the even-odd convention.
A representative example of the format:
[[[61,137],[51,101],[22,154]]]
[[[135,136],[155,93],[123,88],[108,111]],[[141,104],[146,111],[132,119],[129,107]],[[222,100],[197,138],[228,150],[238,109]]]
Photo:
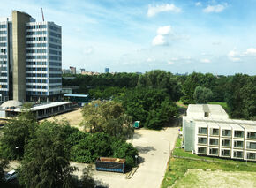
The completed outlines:
[[[120,100],[133,121],[138,120],[150,129],[161,129],[177,116],[177,106],[169,99],[165,90],[132,89],[127,91]]]

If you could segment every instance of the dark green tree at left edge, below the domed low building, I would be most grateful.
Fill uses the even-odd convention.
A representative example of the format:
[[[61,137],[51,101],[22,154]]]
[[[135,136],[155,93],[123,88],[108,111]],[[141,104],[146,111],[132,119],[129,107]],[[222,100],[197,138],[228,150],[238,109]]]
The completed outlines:
[[[18,117],[14,117],[4,126],[4,135],[0,139],[2,156],[5,159],[21,159],[24,147],[32,139],[37,127],[34,114],[29,109],[22,109]]]

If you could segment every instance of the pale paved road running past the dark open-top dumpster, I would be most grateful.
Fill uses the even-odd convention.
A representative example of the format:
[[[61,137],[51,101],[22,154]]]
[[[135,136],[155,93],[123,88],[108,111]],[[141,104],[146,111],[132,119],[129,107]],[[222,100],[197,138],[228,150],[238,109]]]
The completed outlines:
[[[139,149],[139,169],[131,179],[124,174],[93,171],[93,177],[110,188],[159,188],[162,183],[169,151],[173,149],[177,139],[178,128],[167,128],[162,131],[136,130],[133,140],[134,147]],[[169,149],[170,147],[170,149]],[[84,164],[72,163],[83,169]],[[76,172],[81,175],[81,170]]]

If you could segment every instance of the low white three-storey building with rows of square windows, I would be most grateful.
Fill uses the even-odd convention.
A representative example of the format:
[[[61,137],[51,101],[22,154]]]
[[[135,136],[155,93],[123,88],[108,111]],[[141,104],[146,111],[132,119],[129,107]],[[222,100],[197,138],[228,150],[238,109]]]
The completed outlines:
[[[220,105],[190,104],[183,132],[185,151],[256,161],[256,122],[229,119]]]

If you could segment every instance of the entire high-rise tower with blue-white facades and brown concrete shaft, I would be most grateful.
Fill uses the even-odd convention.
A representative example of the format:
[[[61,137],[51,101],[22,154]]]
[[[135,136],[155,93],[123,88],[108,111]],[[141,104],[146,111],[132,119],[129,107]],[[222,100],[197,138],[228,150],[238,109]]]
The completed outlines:
[[[62,87],[61,26],[25,12],[0,19],[0,100],[56,101]]]

